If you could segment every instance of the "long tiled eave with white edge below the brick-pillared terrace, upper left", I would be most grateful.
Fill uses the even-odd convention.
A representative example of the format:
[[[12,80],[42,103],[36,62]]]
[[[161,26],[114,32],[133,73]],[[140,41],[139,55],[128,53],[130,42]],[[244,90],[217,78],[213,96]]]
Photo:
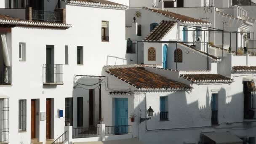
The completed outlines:
[[[11,16],[0,14],[0,24],[18,25],[24,27],[51,27],[51,28],[64,28],[72,27],[71,24],[53,23],[44,21],[28,21],[19,18],[13,18]]]

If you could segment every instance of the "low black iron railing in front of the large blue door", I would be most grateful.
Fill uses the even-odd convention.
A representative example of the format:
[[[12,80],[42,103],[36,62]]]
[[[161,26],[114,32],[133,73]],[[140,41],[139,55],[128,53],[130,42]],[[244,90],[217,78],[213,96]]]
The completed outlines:
[[[106,126],[105,134],[127,134],[131,133],[131,125]]]

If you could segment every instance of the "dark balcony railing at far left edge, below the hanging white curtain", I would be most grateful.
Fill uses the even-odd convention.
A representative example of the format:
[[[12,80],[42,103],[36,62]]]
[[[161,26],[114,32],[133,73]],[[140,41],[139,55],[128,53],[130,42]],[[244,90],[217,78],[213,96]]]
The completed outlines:
[[[0,66],[0,85],[11,85],[11,67]]]

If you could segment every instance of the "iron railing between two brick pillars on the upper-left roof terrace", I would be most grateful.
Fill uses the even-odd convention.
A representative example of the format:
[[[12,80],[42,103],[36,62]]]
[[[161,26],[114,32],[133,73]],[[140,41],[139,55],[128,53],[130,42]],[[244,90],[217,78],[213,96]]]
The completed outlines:
[[[32,20],[33,21],[47,21],[47,22],[61,22],[61,12],[60,11],[40,11],[32,10]]]

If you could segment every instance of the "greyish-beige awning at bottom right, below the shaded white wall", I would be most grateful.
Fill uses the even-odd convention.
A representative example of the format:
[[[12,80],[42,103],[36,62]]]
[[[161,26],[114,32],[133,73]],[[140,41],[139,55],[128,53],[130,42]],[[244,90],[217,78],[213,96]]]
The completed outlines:
[[[216,142],[216,144],[243,144],[243,140],[229,132],[223,133],[203,133],[209,139]]]

